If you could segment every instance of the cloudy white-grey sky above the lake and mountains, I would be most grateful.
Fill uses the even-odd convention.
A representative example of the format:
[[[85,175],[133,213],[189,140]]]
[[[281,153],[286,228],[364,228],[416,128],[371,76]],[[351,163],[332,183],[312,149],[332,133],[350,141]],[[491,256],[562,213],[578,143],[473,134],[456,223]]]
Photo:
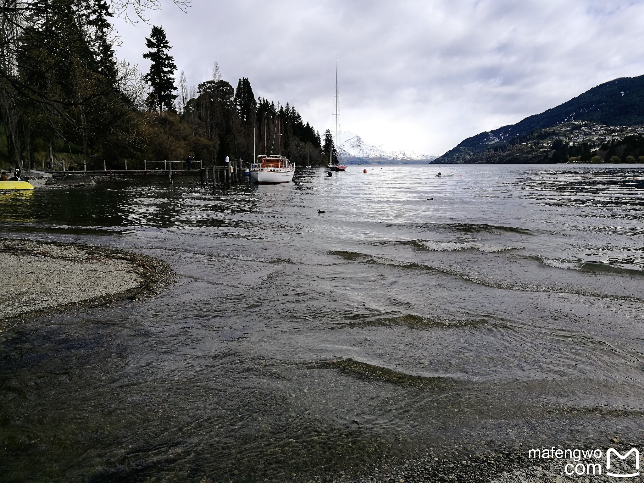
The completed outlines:
[[[424,154],[644,74],[644,0],[164,0],[147,17],[189,84],[218,61],[319,131],[337,58],[342,130]],[[114,23],[119,59],[147,71],[150,25]]]

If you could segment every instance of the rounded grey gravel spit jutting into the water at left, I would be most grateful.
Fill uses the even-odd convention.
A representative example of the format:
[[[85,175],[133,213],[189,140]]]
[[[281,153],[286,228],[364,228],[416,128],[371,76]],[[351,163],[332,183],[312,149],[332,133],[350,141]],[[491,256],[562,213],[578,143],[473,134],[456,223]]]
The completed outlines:
[[[151,256],[0,238],[0,332],[34,316],[154,296],[176,274]]]

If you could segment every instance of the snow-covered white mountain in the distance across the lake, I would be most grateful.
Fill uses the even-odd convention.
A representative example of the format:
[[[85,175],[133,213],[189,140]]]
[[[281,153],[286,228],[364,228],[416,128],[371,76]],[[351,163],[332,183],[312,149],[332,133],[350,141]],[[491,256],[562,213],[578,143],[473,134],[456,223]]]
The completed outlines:
[[[401,163],[401,162],[423,162],[434,160],[437,156],[421,155],[415,151],[399,149],[397,151],[386,151],[381,146],[367,144],[363,138],[354,133],[343,133],[343,141],[339,144],[337,153],[342,162],[347,164],[370,164],[378,163]]]

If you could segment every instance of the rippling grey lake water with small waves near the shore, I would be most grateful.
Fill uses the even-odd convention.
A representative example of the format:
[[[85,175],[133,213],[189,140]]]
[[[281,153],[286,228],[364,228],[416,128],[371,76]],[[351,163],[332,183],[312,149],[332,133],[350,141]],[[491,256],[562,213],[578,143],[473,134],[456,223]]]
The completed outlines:
[[[0,480],[298,481],[644,441],[643,166],[175,180],[0,195],[2,236],[180,275],[0,334]]]

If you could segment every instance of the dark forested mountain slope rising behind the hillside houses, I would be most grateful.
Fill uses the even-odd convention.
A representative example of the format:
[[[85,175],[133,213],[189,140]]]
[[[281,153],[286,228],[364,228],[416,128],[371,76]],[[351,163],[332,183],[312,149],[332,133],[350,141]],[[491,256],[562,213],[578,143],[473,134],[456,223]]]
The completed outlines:
[[[433,162],[516,162],[508,161],[504,156],[490,154],[507,151],[509,146],[517,144],[522,138],[530,138],[540,129],[553,128],[571,121],[589,121],[605,126],[644,124],[644,75],[605,82],[556,108],[526,117],[516,124],[467,138]],[[553,157],[547,156],[547,153],[538,159],[539,161],[531,162],[554,162],[551,161]]]

